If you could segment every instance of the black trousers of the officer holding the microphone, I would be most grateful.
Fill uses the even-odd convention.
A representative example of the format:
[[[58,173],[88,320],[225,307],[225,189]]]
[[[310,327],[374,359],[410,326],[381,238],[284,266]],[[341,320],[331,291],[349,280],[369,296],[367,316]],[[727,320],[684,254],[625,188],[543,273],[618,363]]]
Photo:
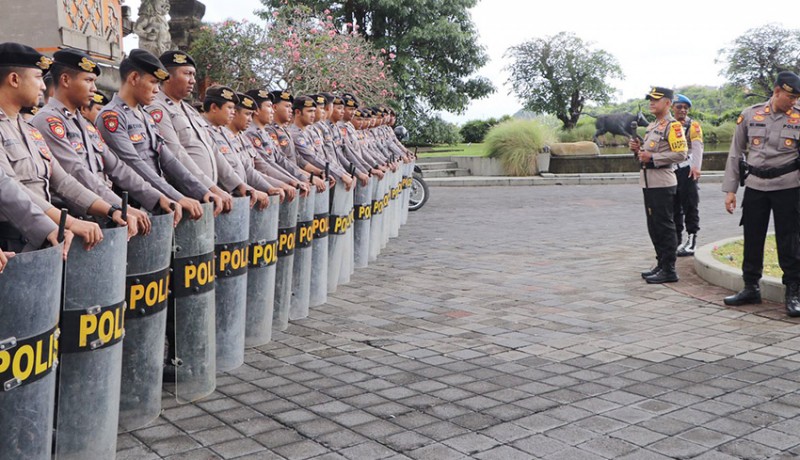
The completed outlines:
[[[675,188],[659,187],[642,189],[647,215],[647,231],[656,250],[659,267],[675,266],[678,238],[675,235]]]

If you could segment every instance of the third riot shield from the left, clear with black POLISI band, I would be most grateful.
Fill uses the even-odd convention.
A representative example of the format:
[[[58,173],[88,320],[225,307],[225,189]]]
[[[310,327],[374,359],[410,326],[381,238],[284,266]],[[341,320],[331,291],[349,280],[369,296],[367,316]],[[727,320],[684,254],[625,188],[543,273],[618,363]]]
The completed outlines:
[[[174,216],[151,216],[150,234],[128,241],[125,279],[125,337],[119,429],[141,428],[161,412],[164,337],[171,278],[170,258]]]

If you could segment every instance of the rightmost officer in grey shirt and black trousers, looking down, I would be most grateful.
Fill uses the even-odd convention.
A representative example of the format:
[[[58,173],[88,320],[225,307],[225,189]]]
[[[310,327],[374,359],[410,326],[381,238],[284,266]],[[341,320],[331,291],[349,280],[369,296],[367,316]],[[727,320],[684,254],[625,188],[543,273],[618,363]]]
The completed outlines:
[[[800,77],[781,72],[772,97],[746,108],[736,120],[722,191],[726,193],[725,209],[733,213],[736,190],[744,180],[740,223],[744,228],[744,289],[725,297],[726,305],[761,303],[758,281],[772,212],[778,263],[786,285],[786,311],[789,316],[800,316],[800,111],[794,107],[798,97]]]

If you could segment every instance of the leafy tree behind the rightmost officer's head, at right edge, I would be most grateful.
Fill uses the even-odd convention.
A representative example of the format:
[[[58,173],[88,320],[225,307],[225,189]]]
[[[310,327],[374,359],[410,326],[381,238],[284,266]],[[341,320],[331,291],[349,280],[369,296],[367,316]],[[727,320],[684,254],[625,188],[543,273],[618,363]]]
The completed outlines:
[[[750,29],[719,50],[717,61],[725,63],[720,74],[734,85],[771,94],[779,72],[800,70],[800,31],[775,24]]]

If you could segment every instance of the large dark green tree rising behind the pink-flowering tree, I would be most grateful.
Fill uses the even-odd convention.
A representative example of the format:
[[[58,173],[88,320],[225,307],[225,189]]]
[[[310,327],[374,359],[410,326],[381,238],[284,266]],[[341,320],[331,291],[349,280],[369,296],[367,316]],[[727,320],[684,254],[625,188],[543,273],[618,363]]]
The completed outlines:
[[[261,0],[262,15],[286,0]],[[477,0],[290,0],[326,10],[344,31],[358,29],[376,48],[394,57],[391,72],[397,99],[406,112],[434,109],[463,112],[472,99],[494,91],[473,74],[487,61],[477,44],[469,8]]]

